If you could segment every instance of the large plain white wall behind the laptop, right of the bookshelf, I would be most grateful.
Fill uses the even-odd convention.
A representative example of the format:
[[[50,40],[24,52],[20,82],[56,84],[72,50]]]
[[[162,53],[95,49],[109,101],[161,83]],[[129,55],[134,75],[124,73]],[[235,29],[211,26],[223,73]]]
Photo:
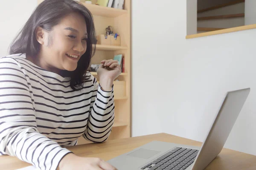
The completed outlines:
[[[203,141],[225,93],[250,87],[224,147],[256,155],[256,30],[186,40],[185,0],[143,2],[132,4],[132,135]]]

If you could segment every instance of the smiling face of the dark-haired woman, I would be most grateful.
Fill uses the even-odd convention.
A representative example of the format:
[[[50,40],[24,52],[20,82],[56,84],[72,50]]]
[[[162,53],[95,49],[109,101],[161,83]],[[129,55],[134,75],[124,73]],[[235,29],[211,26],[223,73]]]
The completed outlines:
[[[74,71],[87,47],[84,17],[78,13],[69,14],[50,33],[44,32],[44,38],[39,52],[41,67],[55,73]]]

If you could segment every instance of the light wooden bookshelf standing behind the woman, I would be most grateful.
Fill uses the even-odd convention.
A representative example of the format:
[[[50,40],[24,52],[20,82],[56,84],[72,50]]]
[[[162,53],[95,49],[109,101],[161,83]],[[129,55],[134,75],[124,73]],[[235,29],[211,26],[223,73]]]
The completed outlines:
[[[38,4],[44,0],[38,0]],[[92,0],[95,3],[95,0]],[[124,9],[108,8],[95,4],[81,3],[93,14],[96,34],[105,34],[105,28],[113,27],[121,38],[121,46],[96,45],[92,64],[100,64],[103,59],[113,59],[114,55],[123,54],[125,72],[114,81],[115,122],[108,140],[131,137],[131,0],[125,0]],[[91,74],[99,80],[96,72]],[[82,136],[78,144],[90,143]]]

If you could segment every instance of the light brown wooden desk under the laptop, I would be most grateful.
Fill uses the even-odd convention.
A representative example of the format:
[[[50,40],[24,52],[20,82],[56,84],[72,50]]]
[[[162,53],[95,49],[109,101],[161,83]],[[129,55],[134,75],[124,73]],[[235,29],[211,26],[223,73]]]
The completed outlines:
[[[102,144],[83,144],[67,148],[78,156],[99,157],[107,161],[154,140],[194,146],[201,146],[202,144],[201,142],[178,136],[158,133],[128,139],[110,140]],[[0,156],[0,169],[14,170],[26,166],[30,166],[30,164],[20,161],[16,157]],[[256,170],[256,156],[224,148],[205,170]]]

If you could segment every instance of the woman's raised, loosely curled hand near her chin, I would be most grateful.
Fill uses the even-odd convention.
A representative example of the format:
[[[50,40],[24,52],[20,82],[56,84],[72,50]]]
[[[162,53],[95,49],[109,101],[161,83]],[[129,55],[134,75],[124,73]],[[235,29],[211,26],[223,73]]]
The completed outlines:
[[[103,60],[97,70],[102,90],[111,91],[113,81],[121,74],[121,67],[117,60]]]

